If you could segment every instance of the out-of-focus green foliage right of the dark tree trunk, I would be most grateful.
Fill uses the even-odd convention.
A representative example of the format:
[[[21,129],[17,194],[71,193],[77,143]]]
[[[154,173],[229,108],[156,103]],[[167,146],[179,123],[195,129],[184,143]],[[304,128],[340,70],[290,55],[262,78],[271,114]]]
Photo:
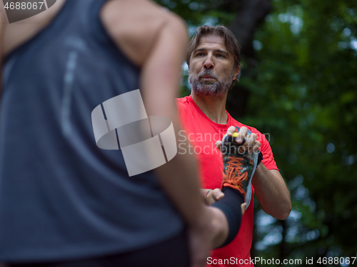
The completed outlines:
[[[301,214],[298,222],[286,221],[287,254],[356,256],[352,236],[357,236],[357,15],[353,4],[276,1],[256,33],[263,48],[256,51],[256,79],[244,81],[253,94],[249,116],[243,121],[274,137],[276,161],[291,187],[293,209]],[[296,177],[303,177],[303,184],[293,187]],[[290,240],[289,228],[296,224],[300,231]]]

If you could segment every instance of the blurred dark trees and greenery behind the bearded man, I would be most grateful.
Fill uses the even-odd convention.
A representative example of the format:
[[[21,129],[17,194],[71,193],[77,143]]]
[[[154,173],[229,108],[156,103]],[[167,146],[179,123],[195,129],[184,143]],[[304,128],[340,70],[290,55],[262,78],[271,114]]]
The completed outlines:
[[[156,1],[191,35],[221,24],[241,43],[241,81],[227,110],[268,134],[293,202],[286,221],[255,202],[252,257],[303,265],[313,257],[314,266],[318,257],[356,257],[357,1]]]

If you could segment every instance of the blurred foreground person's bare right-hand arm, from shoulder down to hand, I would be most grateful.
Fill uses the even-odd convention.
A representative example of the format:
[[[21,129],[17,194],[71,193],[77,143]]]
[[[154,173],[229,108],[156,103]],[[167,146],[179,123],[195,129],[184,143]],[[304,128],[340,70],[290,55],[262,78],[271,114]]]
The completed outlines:
[[[121,51],[141,66],[140,89],[147,114],[169,117],[178,136],[175,99],[188,41],[186,26],[154,3],[135,1],[138,5],[131,0],[111,1],[101,18]],[[116,27],[124,22],[128,28]],[[204,266],[212,248],[213,226],[211,211],[201,200],[195,157],[177,154],[154,171],[188,226],[191,266]]]

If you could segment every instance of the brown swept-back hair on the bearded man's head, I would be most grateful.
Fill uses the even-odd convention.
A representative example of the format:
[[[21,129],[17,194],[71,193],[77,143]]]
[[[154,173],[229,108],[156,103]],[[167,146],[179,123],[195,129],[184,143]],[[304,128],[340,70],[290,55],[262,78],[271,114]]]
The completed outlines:
[[[188,68],[190,66],[191,54],[197,48],[201,37],[208,36],[208,35],[223,37],[224,44],[226,45],[228,53],[230,53],[234,58],[234,68],[236,69],[238,67],[239,70],[241,70],[241,48],[239,47],[239,43],[236,37],[233,36],[231,30],[229,30],[225,26],[208,26],[208,25],[197,27],[196,34],[191,38],[190,43],[188,43],[187,54],[186,54],[186,63],[188,65]],[[239,79],[238,76],[239,75],[237,75],[236,80]]]

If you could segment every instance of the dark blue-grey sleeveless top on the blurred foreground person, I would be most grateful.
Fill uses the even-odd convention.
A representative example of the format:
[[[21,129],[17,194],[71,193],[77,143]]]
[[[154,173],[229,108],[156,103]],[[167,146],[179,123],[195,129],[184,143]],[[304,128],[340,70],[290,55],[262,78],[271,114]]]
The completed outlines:
[[[67,0],[4,61],[0,262],[122,253],[183,229],[154,172],[129,177],[121,150],[96,146],[92,110],[140,74],[102,26],[104,3]]]

